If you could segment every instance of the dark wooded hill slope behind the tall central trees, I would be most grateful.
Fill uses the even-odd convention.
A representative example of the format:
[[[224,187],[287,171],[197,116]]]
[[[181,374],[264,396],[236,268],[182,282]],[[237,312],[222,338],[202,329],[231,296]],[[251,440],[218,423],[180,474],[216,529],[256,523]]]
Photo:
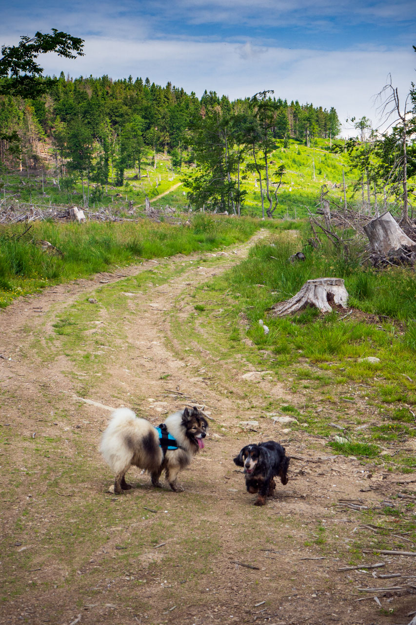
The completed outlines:
[[[2,84],[9,79],[3,78]],[[42,79],[39,79],[40,81]],[[229,101],[207,91],[202,98],[192,92],[151,83],[149,78],[113,81],[101,78],[44,79],[48,93],[36,99],[0,96],[0,160],[9,169],[36,168],[42,161],[55,163],[62,178],[71,174],[86,182],[108,183],[109,169],[116,184],[124,171],[137,167],[149,151],[164,151],[174,166],[195,160],[197,129],[209,111],[233,115],[253,114],[251,99]],[[6,91],[3,89],[3,91]],[[274,138],[310,143],[312,136],[334,137],[339,121],[334,109],[312,104],[287,103],[269,98],[274,111]]]

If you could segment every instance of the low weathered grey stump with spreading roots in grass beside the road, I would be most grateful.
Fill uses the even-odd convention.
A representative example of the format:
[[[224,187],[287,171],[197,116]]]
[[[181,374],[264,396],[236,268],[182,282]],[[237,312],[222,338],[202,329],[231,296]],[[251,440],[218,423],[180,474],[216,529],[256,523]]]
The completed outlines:
[[[272,314],[282,317],[291,312],[299,312],[307,306],[315,306],[321,312],[330,312],[330,303],[343,308],[347,307],[348,292],[344,280],[340,277],[320,277],[317,280],[308,280],[302,289],[284,302],[272,306]]]

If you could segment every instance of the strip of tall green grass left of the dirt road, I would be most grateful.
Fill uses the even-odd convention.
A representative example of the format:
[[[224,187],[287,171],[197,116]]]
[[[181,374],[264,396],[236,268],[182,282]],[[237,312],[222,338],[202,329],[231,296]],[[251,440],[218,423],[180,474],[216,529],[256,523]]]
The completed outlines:
[[[0,307],[22,294],[50,284],[90,276],[114,266],[141,259],[210,251],[245,241],[260,222],[229,220],[197,214],[191,225],[87,222],[56,224],[36,222],[24,232],[21,225],[0,227]],[[62,255],[42,250],[36,241],[46,240]]]

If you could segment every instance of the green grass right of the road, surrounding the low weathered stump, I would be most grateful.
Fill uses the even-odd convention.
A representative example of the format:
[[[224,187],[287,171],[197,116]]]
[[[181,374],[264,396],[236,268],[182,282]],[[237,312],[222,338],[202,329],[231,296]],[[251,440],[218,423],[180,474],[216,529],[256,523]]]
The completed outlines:
[[[303,235],[307,238],[307,232]],[[299,249],[306,252],[306,261],[288,262]],[[342,272],[338,273],[340,267]],[[382,301],[378,284],[383,284],[396,319],[386,319],[381,312],[380,320],[375,312],[370,321],[365,316],[340,319],[344,312],[324,316],[314,308],[287,317],[270,315],[274,302],[295,294],[307,279],[321,276],[344,277],[347,290],[348,284],[357,285],[353,305],[375,312]],[[187,340],[197,342],[202,332],[206,349],[219,362],[229,362],[230,369],[240,368],[239,359],[244,354],[244,360],[256,371],[267,369],[272,372],[271,379],[274,376],[287,384],[297,401],[288,404],[272,400],[262,409],[293,414],[298,423],[290,424],[292,429],[319,434],[330,441],[339,434],[330,423],[339,423],[346,428],[349,442],[335,444],[336,451],[378,459],[383,449],[376,442],[389,448],[416,434],[414,349],[407,340],[407,320],[402,319],[403,307],[412,310],[414,306],[412,279],[410,269],[373,275],[353,255],[340,264],[337,251],[328,244],[314,251],[302,246],[300,237],[287,237],[282,232],[274,241],[252,248],[248,259],[226,275],[195,291],[194,307],[199,314],[178,320],[177,333],[186,327]],[[269,334],[264,333],[259,319],[267,324]],[[215,341],[210,338],[214,336]],[[373,364],[363,360],[367,356],[377,356],[380,361]],[[237,401],[248,397],[236,392],[232,378],[227,376],[224,392],[233,393]],[[325,409],[318,413],[320,406]],[[372,427],[353,432],[366,423]],[[412,470],[402,465],[402,471]]]

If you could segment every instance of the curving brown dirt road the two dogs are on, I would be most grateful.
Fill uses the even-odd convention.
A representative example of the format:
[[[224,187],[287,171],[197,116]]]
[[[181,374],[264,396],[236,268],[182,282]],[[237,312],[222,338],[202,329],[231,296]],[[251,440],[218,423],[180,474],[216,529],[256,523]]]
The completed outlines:
[[[1,622],[410,621],[415,558],[363,552],[377,532],[370,513],[400,489],[394,476],[274,422],[283,404],[312,401],[309,391],[292,392],[249,342],[230,349],[232,317],[211,323],[227,298],[212,279],[264,236],[53,287],[1,312]],[[212,417],[205,449],[179,478],[185,491],[153,489],[132,470],[134,488],[109,493],[98,446],[110,409],[132,407],[156,425],[184,404]],[[289,484],[254,507],[232,457],[267,439],[293,456]],[[398,545],[414,551],[405,538]],[[349,562],[361,568],[339,571]]]

